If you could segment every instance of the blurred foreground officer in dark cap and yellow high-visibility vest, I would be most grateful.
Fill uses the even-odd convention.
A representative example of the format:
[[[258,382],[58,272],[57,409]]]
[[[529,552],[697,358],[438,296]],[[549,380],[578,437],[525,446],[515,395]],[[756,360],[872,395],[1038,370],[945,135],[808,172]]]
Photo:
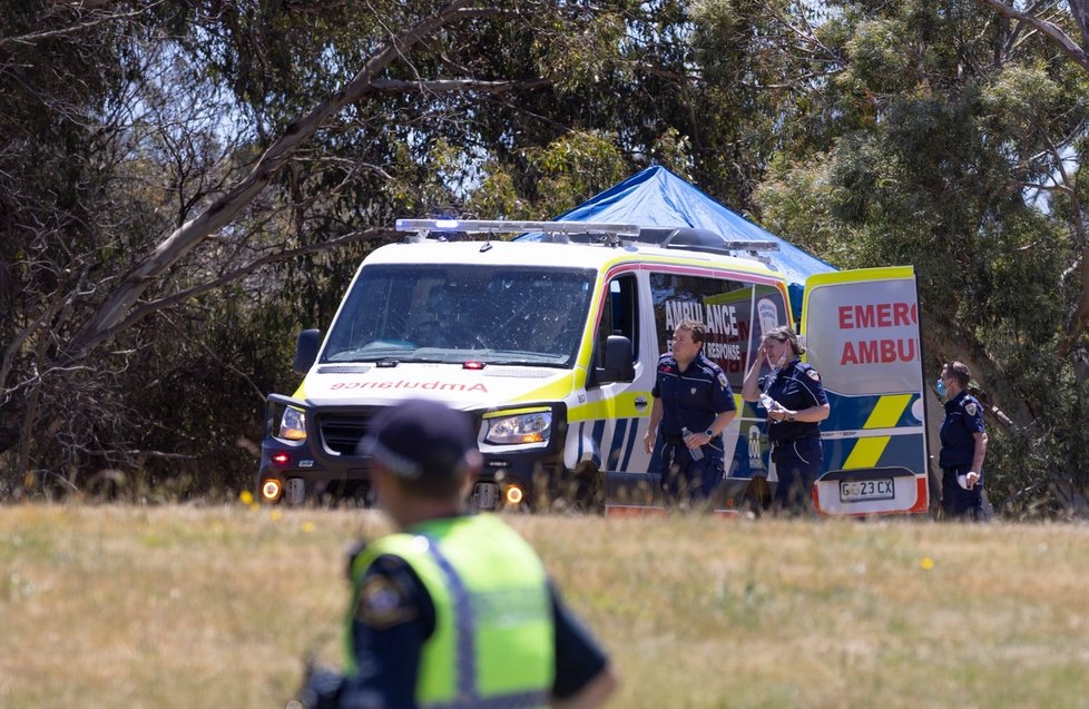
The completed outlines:
[[[530,545],[499,518],[465,515],[480,470],[469,417],[412,400],[361,443],[400,530],[351,568],[347,673],[310,674],[306,707],[599,707],[616,678]]]

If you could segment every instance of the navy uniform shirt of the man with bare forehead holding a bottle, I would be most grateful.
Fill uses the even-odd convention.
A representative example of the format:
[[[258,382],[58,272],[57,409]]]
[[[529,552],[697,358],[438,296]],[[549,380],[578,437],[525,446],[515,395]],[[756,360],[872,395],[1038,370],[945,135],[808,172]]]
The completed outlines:
[[[703,354],[684,372],[673,353],[661,355],[650,394],[661,400],[663,436],[681,436],[681,429],[703,433],[718,414],[737,408],[723,368]]]

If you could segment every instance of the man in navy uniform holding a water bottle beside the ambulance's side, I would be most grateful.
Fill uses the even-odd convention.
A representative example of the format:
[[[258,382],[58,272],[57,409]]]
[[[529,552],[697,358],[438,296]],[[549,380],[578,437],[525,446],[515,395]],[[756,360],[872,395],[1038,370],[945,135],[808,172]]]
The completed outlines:
[[[670,352],[658,360],[650,427],[644,446],[651,473],[673,502],[710,499],[724,475],[723,431],[737,414],[722,367],[703,355],[706,328],[681,321]],[[660,429],[660,440],[659,440]]]

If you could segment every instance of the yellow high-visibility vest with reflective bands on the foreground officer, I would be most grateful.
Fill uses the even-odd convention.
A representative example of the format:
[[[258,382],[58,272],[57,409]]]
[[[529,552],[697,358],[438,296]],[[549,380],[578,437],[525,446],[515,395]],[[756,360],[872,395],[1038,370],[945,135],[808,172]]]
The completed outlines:
[[[435,608],[416,681],[420,707],[548,706],[556,641],[544,569],[529,543],[491,514],[425,522],[367,544],[352,572],[350,672],[357,670],[351,628],[361,582],[383,554],[412,567]]]

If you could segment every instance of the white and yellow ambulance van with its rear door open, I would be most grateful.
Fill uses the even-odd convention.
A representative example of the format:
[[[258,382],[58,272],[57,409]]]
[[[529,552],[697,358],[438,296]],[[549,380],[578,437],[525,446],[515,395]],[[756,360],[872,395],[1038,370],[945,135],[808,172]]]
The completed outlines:
[[[723,435],[716,510],[759,510],[775,485],[766,412],[739,392],[763,333],[791,325],[832,406],[816,510],[928,511],[910,267],[813,276],[795,323],[771,242],[577,221],[401,219],[398,228],[405,242],[363,260],[328,333],[300,334],[298,390],[268,396],[257,477],[265,502],[369,504],[357,450],[369,422],[428,396],[475,422],[484,461],[477,509],[660,512],[644,446],[650,392],[675,325],[696,318],[738,411]],[[526,233],[533,238],[498,236]]]

